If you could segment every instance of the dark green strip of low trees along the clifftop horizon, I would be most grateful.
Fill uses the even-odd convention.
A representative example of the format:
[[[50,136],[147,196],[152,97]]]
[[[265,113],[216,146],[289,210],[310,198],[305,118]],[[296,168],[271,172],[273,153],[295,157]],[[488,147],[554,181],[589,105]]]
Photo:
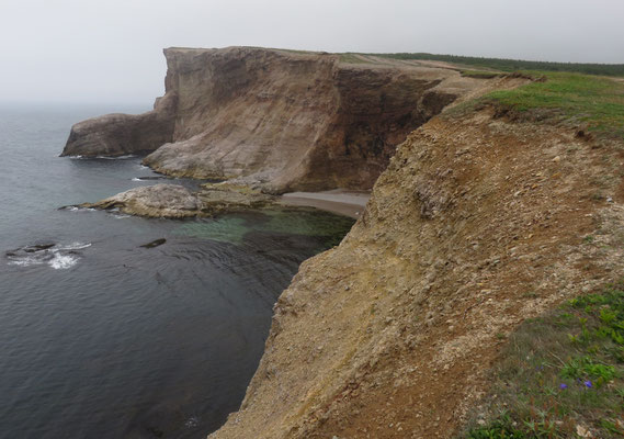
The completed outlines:
[[[475,56],[435,55],[435,54],[367,54],[393,59],[422,59],[446,61],[464,66],[490,68],[502,71],[543,70],[572,71],[586,75],[624,76],[624,64],[580,64],[580,63],[548,63],[526,61],[520,59],[481,58]]]

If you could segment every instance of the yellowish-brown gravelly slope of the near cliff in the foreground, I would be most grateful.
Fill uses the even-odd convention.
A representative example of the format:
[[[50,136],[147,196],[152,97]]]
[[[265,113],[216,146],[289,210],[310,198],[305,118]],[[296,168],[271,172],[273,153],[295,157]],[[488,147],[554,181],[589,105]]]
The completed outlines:
[[[496,114],[407,137],[342,244],[282,293],[245,402],[211,438],[452,437],[497,335],[624,273],[619,144]]]

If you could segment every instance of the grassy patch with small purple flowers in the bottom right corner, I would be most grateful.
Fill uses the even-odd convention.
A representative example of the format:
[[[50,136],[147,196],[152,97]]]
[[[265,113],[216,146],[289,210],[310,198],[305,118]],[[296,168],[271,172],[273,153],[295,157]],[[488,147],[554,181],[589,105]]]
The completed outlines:
[[[525,322],[495,371],[486,417],[462,437],[624,437],[624,284]]]

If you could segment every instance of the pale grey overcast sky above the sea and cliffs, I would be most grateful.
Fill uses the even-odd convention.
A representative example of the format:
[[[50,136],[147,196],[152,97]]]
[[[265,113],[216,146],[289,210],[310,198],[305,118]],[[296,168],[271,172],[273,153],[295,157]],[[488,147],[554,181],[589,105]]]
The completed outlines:
[[[624,0],[0,0],[0,102],[151,104],[162,48],[624,63]]]

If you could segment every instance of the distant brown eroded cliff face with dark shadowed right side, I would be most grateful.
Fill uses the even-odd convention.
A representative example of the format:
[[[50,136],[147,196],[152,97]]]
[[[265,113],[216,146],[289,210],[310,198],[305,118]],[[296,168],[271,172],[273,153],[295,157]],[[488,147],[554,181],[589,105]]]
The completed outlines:
[[[416,63],[229,47],[169,48],[152,112],[73,126],[64,155],[154,151],[159,172],[269,192],[370,189],[408,133],[481,80]]]

